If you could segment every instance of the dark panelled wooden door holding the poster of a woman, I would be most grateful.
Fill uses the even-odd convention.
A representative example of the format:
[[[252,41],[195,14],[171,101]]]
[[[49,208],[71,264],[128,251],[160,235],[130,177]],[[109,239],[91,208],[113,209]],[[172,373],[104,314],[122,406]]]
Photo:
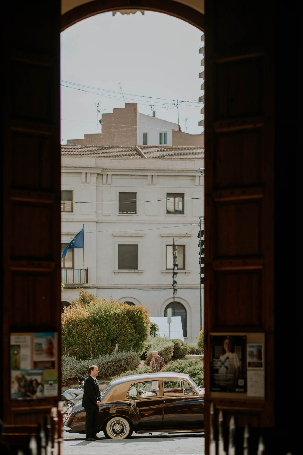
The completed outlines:
[[[274,425],[274,105],[270,2],[205,1],[205,428]],[[265,399],[212,398],[210,333],[265,334]],[[239,452],[240,453],[240,452]]]

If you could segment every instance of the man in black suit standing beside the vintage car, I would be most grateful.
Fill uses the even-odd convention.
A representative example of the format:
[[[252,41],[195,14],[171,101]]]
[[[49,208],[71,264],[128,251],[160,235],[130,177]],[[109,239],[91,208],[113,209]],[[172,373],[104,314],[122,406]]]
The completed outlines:
[[[99,374],[97,365],[91,365],[88,372],[89,376],[87,376],[84,383],[82,399],[82,406],[86,413],[85,439],[87,441],[96,441],[96,439],[101,439],[96,435],[99,423],[99,406],[101,404],[99,382],[96,379]]]

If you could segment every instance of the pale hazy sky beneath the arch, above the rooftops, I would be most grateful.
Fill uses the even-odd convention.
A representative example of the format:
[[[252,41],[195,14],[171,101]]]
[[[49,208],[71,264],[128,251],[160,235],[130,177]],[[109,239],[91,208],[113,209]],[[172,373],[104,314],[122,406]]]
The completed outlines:
[[[200,134],[201,35],[187,22],[151,11],[103,13],[61,32],[61,143],[100,132],[97,115],[125,102],[177,123],[177,100],[183,101],[182,131]]]

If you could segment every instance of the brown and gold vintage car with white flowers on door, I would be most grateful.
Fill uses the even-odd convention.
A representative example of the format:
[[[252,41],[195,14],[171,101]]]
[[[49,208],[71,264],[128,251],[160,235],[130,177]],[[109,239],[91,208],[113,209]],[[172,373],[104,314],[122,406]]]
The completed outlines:
[[[184,373],[147,373],[111,381],[101,392],[99,431],[106,438],[136,433],[201,431],[204,389]],[[85,410],[76,403],[65,431],[85,433]]]

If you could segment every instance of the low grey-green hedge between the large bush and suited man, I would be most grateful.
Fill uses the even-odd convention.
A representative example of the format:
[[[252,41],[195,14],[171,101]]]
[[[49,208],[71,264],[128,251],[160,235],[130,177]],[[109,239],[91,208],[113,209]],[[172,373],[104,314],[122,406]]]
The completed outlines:
[[[86,360],[76,360],[75,357],[62,355],[62,383],[66,384],[78,376],[87,377],[89,366],[94,364],[99,368],[98,379],[102,379],[135,369],[140,364],[140,357],[136,351],[106,354]]]

